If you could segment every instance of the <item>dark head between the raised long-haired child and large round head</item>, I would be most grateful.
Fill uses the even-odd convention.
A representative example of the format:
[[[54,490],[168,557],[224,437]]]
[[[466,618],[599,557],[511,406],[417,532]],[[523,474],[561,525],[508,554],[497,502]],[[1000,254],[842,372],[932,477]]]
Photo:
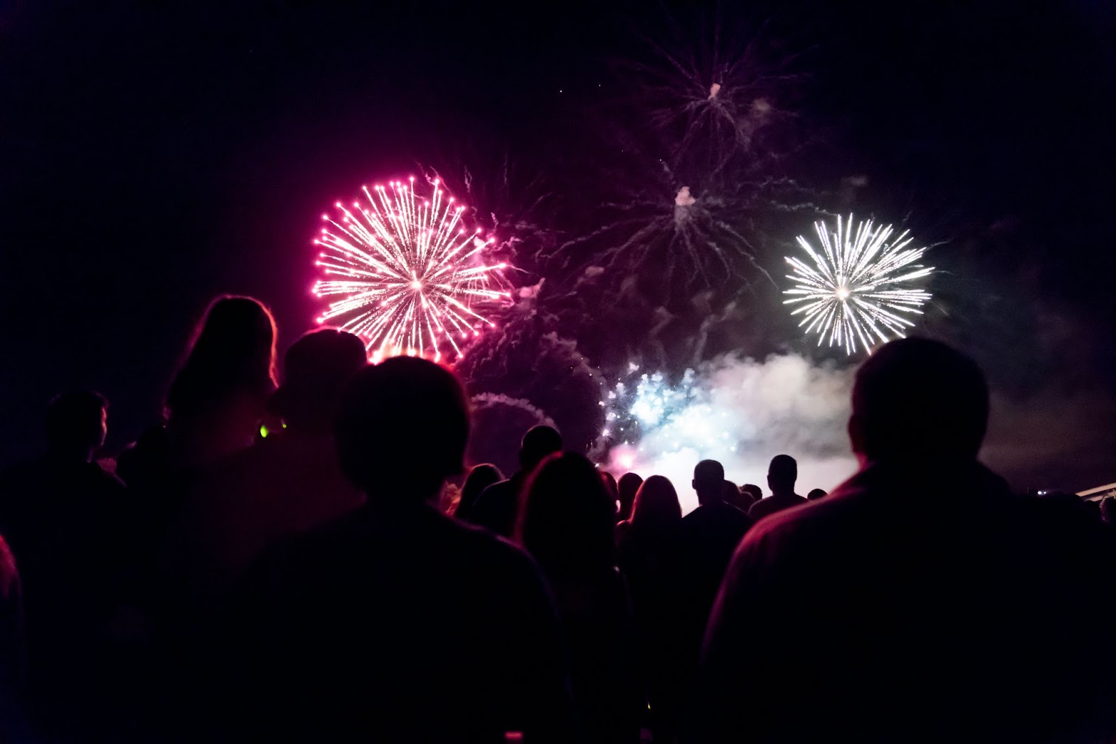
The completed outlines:
[[[327,433],[345,383],[367,364],[364,342],[344,330],[305,334],[283,356],[283,377],[268,410],[295,431]]]

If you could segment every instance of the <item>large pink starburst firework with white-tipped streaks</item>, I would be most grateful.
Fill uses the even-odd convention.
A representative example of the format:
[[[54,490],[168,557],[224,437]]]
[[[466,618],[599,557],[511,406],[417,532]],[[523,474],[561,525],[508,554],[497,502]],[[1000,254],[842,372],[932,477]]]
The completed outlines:
[[[314,286],[333,299],[318,318],[365,339],[375,361],[410,355],[442,358],[496,323],[485,309],[509,301],[501,270],[484,262],[492,244],[464,225],[464,207],[431,182],[429,197],[410,183],[363,189],[366,201],[337,202],[337,215],[314,242],[326,279]]]

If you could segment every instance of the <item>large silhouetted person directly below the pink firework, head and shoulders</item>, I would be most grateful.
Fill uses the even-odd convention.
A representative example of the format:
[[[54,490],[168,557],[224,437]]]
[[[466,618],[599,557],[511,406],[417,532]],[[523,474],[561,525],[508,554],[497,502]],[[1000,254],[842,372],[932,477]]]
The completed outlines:
[[[538,567],[432,503],[462,470],[460,383],[420,358],[366,367],[335,433],[341,471],[368,500],[250,571],[212,675],[222,684],[203,690],[209,737],[570,741],[560,629]]]

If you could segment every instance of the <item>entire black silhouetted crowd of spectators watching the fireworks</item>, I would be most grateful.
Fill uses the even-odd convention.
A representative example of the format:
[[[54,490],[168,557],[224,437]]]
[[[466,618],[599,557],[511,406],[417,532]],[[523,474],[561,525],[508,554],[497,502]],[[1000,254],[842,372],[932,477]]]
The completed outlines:
[[[550,426],[470,466],[452,371],[276,336],[218,298],[133,445],[65,393],[0,473],[0,744],[1116,737],[1116,509],[981,465],[943,344],[859,367],[831,492],[703,460],[684,515]]]

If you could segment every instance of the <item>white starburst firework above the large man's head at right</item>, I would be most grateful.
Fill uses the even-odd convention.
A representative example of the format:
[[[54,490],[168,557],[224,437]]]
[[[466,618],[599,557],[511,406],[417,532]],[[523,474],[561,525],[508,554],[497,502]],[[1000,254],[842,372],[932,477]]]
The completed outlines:
[[[908,248],[912,238],[904,231],[892,239],[891,225],[877,226],[870,220],[853,229],[848,220],[837,218],[836,232],[825,222],[815,223],[821,250],[815,250],[799,235],[812,262],[788,257],[795,281],[786,294],[793,294],[787,305],[802,303],[791,315],[804,316],[799,327],[818,334],[818,345],[844,347],[852,355],[863,346],[870,351],[876,342],[888,340],[887,334],[904,336],[914,322],[904,315],[921,315],[930,292],[910,287],[908,282],[929,277],[933,267],[917,261],[925,248]],[[899,315],[903,313],[903,315]]]

